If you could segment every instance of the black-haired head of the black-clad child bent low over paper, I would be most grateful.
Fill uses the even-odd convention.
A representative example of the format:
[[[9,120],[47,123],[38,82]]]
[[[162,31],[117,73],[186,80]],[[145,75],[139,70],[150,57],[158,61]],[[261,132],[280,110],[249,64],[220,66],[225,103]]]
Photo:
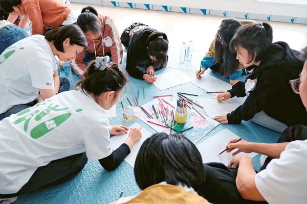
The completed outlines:
[[[148,55],[156,58],[153,67],[160,68],[167,63],[168,39],[165,33],[153,32],[147,39]]]

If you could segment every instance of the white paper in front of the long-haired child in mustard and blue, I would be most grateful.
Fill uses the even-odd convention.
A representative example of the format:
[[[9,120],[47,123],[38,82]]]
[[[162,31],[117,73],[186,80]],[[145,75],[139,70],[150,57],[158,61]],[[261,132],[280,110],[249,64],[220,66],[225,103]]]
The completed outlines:
[[[195,81],[191,82],[192,84],[206,90],[206,91],[228,91],[231,89],[232,85],[228,84],[216,77],[208,73],[204,73],[202,75],[202,79],[196,79]],[[214,95],[218,95],[220,93],[212,93]]]

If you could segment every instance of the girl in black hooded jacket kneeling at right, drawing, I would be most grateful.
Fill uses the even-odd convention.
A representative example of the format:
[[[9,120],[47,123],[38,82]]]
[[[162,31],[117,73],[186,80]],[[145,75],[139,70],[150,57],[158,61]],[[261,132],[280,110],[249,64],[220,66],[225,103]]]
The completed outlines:
[[[272,27],[266,22],[238,29],[230,42],[230,49],[247,67],[247,80],[218,95],[217,99],[248,97],[236,110],[214,119],[221,123],[239,124],[262,112],[265,116],[262,119],[267,120],[262,123],[279,132],[283,130],[270,124],[273,119],[287,126],[307,125],[306,110],[299,95],[289,86],[289,81],[299,78],[302,71],[304,62],[299,58],[300,52],[291,49],[286,42],[272,43],[272,38]]]

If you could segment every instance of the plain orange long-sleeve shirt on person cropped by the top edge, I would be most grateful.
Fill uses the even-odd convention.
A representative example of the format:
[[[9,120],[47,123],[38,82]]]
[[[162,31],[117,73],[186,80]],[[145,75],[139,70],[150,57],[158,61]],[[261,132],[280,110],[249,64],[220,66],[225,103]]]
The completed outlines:
[[[21,0],[32,23],[32,35],[42,35],[43,25],[55,29],[60,27],[72,8],[58,0]]]

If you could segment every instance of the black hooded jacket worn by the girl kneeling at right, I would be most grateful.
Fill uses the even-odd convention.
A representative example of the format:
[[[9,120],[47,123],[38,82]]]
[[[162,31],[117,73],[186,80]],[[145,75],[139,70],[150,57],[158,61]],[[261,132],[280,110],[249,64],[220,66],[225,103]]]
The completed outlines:
[[[248,95],[242,106],[227,114],[228,123],[239,124],[250,120],[261,110],[288,126],[307,125],[307,112],[299,94],[295,94],[289,84],[298,79],[304,62],[300,52],[293,50],[286,42],[273,43],[259,66],[247,68],[246,82],[235,84],[231,97]],[[256,80],[254,89],[246,93],[246,83]]]

